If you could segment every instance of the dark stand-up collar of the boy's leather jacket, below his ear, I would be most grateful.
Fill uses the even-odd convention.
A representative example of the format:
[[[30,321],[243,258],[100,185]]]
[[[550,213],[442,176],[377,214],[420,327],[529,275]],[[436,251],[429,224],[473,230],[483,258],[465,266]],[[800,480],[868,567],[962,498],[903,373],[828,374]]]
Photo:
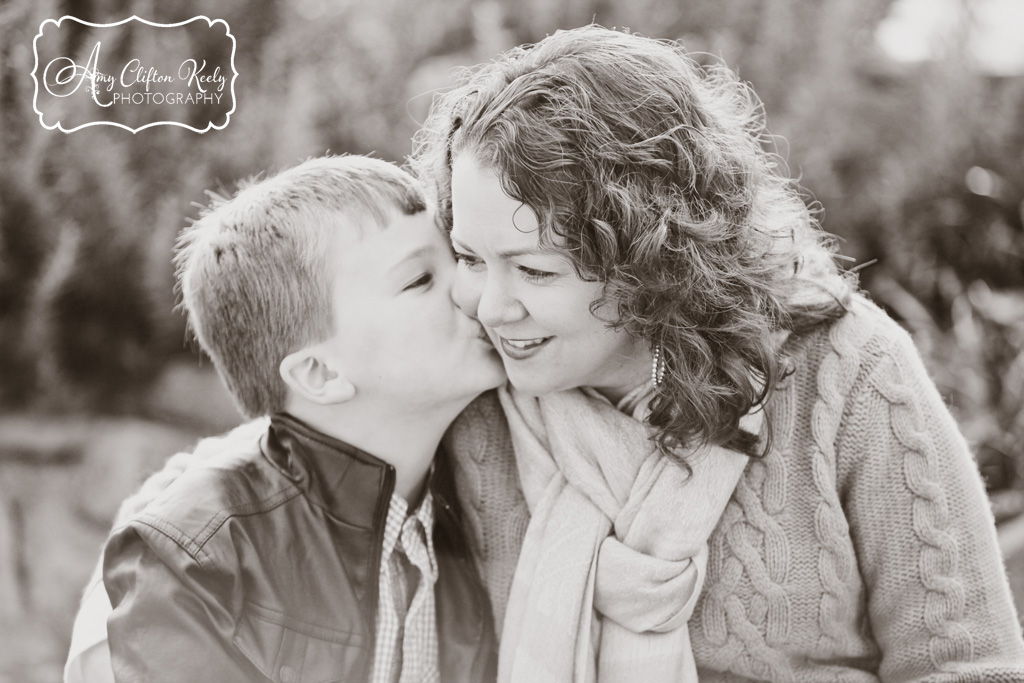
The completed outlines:
[[[394,467],[287,413],[270,418],[267,459],[337,519],[365,529],[381,522],[394,492]]]

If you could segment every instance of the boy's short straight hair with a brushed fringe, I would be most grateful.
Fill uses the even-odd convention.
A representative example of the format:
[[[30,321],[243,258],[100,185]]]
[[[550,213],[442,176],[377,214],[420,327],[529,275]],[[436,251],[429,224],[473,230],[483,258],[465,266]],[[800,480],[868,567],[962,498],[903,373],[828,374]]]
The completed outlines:
[[[175,249],[181,306],[242,413],[267,415],[285,408],[281,361],[334,334],[335,231],[384,227],[395,209],[419,213],[423,191],[394,164],[344,156],[243,181],[230,199],[210,196]]]

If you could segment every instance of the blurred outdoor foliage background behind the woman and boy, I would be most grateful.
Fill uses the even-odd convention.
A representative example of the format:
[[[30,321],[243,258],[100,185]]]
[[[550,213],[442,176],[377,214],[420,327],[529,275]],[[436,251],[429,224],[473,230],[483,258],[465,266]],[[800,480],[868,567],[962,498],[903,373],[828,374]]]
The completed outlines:
[[[230,124],[45,130],[32,39],[65,14],[225,19]],[[60,679],[118,503],[239,420],[173,310],[171,248],[204,190],[325,151],[401,161],[453,68],[591,20],[679,39],[754,85],[959,419],[1024,596],[1021,0],[2,0],[0,681]]]

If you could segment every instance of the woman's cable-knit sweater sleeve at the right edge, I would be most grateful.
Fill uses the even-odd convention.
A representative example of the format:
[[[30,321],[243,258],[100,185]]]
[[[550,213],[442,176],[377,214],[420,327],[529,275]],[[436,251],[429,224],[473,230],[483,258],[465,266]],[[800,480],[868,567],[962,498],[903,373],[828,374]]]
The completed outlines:
[[[1024,642],[977,465],[909,336],[851,392],[839,486],[883,681],[1024,681]]]

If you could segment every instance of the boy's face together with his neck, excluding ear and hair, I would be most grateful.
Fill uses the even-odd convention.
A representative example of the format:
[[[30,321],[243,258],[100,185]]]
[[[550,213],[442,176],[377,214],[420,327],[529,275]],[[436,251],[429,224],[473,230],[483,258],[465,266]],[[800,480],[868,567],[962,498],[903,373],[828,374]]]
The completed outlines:
[[[422,489],[452,422],[505,382],[483,328],[452,302],[449,250],[425,213],[395,214],[383,228],[335,241],[334,318],[348,326],[326,343],[354,395],[293,401],[296,417],[391,464],[407,500]],[[433,280],[421,287],[424,273]],[[361,334],[346,334],[352,329]]]

